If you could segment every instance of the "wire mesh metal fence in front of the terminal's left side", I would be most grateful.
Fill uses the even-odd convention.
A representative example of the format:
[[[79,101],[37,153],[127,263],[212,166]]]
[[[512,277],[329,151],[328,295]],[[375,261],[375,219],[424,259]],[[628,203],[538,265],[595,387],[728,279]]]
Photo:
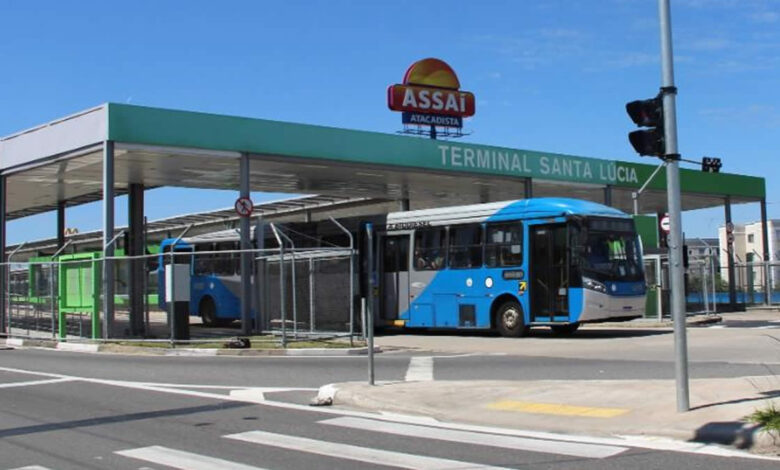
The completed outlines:
[[[174,304],[166,287],[179,285],[174,264],[186,265],[190,301],[188,341],[242,334],[241,250],[214,246],[174,254],[103,258],[99,253],[62,255],[56,261],[5,263],[6,322],[10,336],[95,340],[176,341]],[[251,259],[251,331],[270,341],[345,336],[360,330],[355,296],[355,253],[350,248],[247,250]],[[175,259],[174,259],[175,258]],[[106,260],[113,269],[113,318],[106,322]],[[160,263],[162,262],[162,269]],[[131,271],[143,271],[131,294]],[[172,272],[166,279],[165,271]],[[170,292],[167,292],[170,295]],[[140,300],[139,300],[140,298]],[[210,299],[210,300],[209,300]],[[135,300],[135,301],[133,301]],[[206,325],[208,302],[232,320]],[[217,317],[219,318],[219,317]],[[178,328],[178,329],[177,329]]]

